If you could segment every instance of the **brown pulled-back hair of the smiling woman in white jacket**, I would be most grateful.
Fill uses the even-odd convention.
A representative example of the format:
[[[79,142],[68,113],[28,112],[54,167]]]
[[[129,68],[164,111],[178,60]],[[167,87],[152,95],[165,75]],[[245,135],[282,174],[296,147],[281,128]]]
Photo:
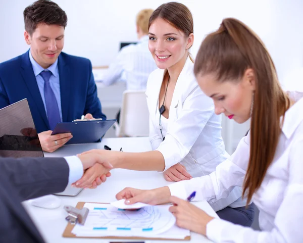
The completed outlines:
[[[159,6],[149,18],[148,29],[151,23],[153,23],[157,18],[161,18],[169,22],[175,28],[181,30],[185,36],[189,36],[193,33],[192,15],[184,4],[170,2]],[[188,56],[193,62],[189,53]]]

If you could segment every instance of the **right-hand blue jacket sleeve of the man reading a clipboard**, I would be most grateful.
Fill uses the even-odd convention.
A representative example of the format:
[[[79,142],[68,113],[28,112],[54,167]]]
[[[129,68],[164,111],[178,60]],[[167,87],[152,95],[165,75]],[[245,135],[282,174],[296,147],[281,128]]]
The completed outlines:
[[[85,111],[84,113],[90,113],[94,118],[102,118],[106,120],[106,115],[102,113],[101,103],[98,99],[97,95],[97,86],[95,84],[93,75],[92,75],[92,67],[91,62],[89,63],[89,80],[88,80],[88,88],[85,102]]]

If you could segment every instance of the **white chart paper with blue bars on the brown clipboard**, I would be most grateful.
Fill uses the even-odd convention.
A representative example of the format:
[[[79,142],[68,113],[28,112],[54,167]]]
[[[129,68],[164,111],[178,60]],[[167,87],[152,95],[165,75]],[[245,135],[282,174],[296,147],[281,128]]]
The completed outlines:
[[[76,224],[73,228],[72,233],[76,236],[149,237],[177,227],[175,217],[168,210],[169,205],[148,206],[133,211],[109,204],[85,203],[84,207],[89,209],[89,213],[84,225]]]

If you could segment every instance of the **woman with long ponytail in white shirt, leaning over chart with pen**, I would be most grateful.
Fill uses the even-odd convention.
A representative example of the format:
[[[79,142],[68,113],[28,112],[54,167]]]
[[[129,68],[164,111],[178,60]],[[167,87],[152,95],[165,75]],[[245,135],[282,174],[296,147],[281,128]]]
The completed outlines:
[[[173,203],[170,211],[178,226],[215,242],[303,242],[302,93],[281,89],[263,42],[232,18],[204,39],[194,74],[213,99],[215,113],[237,123],[251,118],[250,132],[210,175],[153,190],[126,188],[117,198],[130,204]],[[242,196],[260,209],[261,231],[215,219],[182,200],[196,190],[195,200],[216,202],[234,186],[243,186]]]

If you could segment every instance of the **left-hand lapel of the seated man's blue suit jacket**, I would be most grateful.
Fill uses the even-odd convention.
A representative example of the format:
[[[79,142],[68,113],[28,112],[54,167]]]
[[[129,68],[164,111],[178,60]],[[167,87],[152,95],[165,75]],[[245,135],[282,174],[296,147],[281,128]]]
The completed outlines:
[[[21,74],[23,76],[24,82],[27,85],[28,91],[32,96],[32,99],[36,103],[39,114],[42,117],[43,122],[49,129],[48,120],[46,117],[46,112],[44,109],[41,94],[38,88],[37,80],[33,71],[32,64],[29,60],[29,51],[22,55],[21,58]],[[33,108],[32,108],[33,109]]]

